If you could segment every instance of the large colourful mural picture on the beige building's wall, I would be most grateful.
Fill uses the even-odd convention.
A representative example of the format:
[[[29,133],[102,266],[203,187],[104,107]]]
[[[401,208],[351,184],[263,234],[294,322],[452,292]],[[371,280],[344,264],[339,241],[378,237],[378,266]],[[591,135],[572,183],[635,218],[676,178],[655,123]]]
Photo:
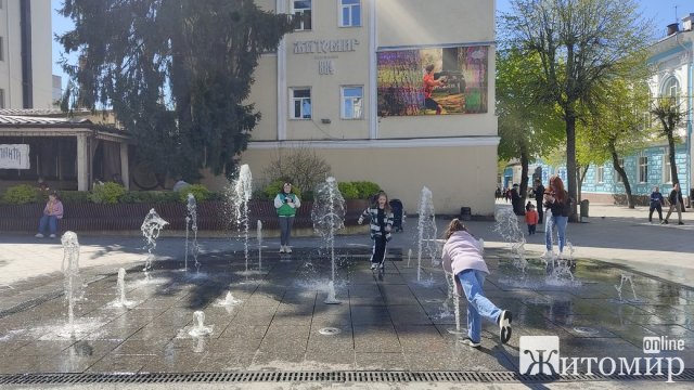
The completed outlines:
[[[489,47],[378,52],[378,115],[487,113]]]

